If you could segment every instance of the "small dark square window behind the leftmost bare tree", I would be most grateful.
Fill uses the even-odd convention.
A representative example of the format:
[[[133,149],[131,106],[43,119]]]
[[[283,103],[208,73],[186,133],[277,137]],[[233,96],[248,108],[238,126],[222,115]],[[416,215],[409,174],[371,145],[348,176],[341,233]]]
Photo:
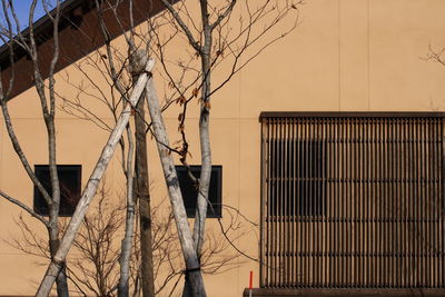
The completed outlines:
[[[69,217],[76,210],[80,199],[80,182],[82,167],[80,165],[58,165],[60,182],[60,210],[59,216]],[[34,172],[43,185],[44,189],[51,195],[51,180],[48,165],[36,165]],[[41,192],[34,186],[34,211],[42,216],[48,216],[48,205]]]

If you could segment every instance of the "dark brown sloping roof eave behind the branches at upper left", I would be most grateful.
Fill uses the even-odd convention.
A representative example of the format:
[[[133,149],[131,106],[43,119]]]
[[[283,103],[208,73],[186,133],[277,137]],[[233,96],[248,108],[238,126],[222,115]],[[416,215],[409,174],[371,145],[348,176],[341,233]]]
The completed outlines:
[[[91,53],[93,50],[105,44],[105,40],[99,30],[99,21],[95,0],[66,0],[61,3],[61,19],[59,23],[60,58],[56,71],[59,71],[77,60]],[[122,1],[118,8],[118,16],[125,30],[129,23],[129,1]],[[134,0],[135,26],[140,24],[149,16],[155,16],[165,9],[160,0]],[[53,10],[55,11],[55,10]],[[51,11],[52,13],[55,13]],[[103,14],[103,20],[111,38],[121,34],[121,28],[117,23],[115,16],[108,11]],[[48,16],[34,22],[36,41],[38,42],[39,68],[43,78],[48,77],[50,60],[52,58],[52,22]],[[23,34],[28,30],[22,31]],[[28,90],[33,86],[33,67],[27,53],[20,49],[14,49],[14,85],[10,99]],[[0,68],[3,89],[8,88],[11,77],[11,65],[8,46],[0,47]]]

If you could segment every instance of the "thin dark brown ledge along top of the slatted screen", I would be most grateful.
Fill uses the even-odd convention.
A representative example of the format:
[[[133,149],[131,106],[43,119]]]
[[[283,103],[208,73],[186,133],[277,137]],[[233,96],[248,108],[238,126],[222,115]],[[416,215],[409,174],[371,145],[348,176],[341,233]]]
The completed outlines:
[[[444,111],[263,111],[259,121],[267,118],[444,118]]]

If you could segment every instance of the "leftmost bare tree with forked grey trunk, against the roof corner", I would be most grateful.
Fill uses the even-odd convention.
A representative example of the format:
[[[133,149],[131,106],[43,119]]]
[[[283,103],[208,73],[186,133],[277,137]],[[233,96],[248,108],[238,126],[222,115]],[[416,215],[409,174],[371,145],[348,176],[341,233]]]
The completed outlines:
[[[27,33],[22,33],[22,27],[19,18],[17,17],[16,9],[12,1],[2,0],[2,14],[4,17],[4,23],[0,24],[0,38],[3,43],[8,44],[9,59],[12,67],[12,72],[8,83],[0,81],[0,105],[3,113],[4,123],[8,130],[9,139],[11,140],[12,147],[19,157],[22,167],[28,174],[28,177],[41,192],[44,201],[48,205],[48,219],[40,216],[31,207],[26,206],[19,199],[12,198],[3,191],[0,195],[7,200],[16,204],[17,206],[24,209],[32,217],[39,219],[48,230],[49,250],[51,258],[56,255],[59,248],[59,209],[60,209],[60,184],[57,171],[57,151],[56,151],[56,93],[55,93],[55,69],[59,59],[59,37],[58,37],[58,26],[60,20],[60,2],[56,1],[56,9],[49,12],[49,8],[46,1],[42,1],[42,6],[46,10],[47,16],[51,20],[52,34],[53,34],[53,52],[50,60],[49,72],[48,72],[48,86],[46,86],[43,80],[43,75],[40,70],[40,57],[38,53],[38,47],[34,38],[33,19],[38,1],[33,0],[31,2],[29,14],[28,14],[28,29]],[[18,34],[14,36],[14,30]],[[13,57],[16,49],[22,49],[26,51],[28,57],[30,57],[33,67],[33,80],[34,88],[40,99],[40,107],[42,117],[44,120],[44,127],[47,130],[48,138],[48,164],[50,172],[50,186],[51,192],[48,192],[43,187],[41,181],[37,178],[33,172],[29,158],[23,151],[19,138],[16,135],[16,130],[9,115],[8,100],[10,99],[11,91],[14,86],[14,69],[13,69]],[[47,91],[48,90],[48,91]],[[63,267],[63,263],[60,263]],[[65,269],[61,274],[57,276],[57,293],[58,296],[68,296],[68,284],[65,275]]]

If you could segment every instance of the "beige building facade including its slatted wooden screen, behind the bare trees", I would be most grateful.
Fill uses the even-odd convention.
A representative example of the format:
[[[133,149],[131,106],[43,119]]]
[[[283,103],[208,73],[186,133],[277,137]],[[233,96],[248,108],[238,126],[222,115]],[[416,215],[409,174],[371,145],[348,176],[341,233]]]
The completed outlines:
[[[258,222],[245,222],[234,245],[260,264],[240,257],[235,269],[206,277],[209,296],[240,296],[250,270],[258,296],[444,295],[445,68],[425,59],[429,47],[445,44],[444,8],[439,0],[307,1],[297,29],[214,97],[221,204]],[[66,73],[79,81],[71,61]],[[44,128],[29,87],[9,105],[32,165],[44,165]],[[99,105],[90,108],[112,122]],[[198,116],[188,113],[190,143]],[[178,109],[165,117],[177,131]],[[62,112],[58,127],[59,162],[81,165],[85,185],[107,133]],[[0,131],[0,189],[32,205],[3,122]],[[198,165],[199,147],[190,152]],[[154,143],[149,158],[151,195],[162,199]],[[120,180],[120,170],[117,157],[107,179]],[[20,210],[3,200],[0,209],[8,238]],[[218,222],[209,219],[208,228]],[[0,258],[0,295],[32,295],[44,268],[3,241]]]

